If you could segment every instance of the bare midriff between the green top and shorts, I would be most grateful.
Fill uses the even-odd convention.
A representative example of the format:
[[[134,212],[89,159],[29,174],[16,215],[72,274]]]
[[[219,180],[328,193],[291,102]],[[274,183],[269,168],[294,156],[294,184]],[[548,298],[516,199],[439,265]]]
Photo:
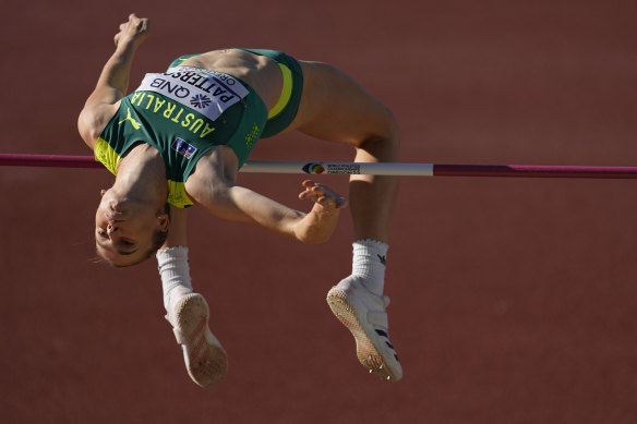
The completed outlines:
[[[182,65],[224,72],[250,85],[271,110],[280,97],[283,77],[278,65],[269,58],[244,50],[214,50],[184,60]]]

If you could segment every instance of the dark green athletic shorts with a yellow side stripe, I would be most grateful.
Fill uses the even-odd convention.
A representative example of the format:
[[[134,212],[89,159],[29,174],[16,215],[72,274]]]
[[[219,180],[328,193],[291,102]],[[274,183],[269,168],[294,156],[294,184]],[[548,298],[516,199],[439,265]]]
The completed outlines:
[[[297,112],[299,111],[299,104],[301,102],[301,94],[303,93],[303,72],[299,62],[278,50],[265,49],[240,49],[254,54],[265,56],[274,60],[284,78],[284,89],[281,96],[275,107],[268,112],[267,122],[261,134],[261,138],[272,137],[287,129],[292,123]],[[179,66],[184,60],[197,54],[185,54],[175,60],[169,68]]]

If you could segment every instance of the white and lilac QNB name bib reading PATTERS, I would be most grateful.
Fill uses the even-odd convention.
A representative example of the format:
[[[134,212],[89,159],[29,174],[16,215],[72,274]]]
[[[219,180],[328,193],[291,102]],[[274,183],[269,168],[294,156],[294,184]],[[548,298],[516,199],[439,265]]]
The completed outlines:
[[[165,73],[148,73],[137,92],[154,92],[212,121],[248,96],[248,89],[231,75],[192,66],[170,68]]]

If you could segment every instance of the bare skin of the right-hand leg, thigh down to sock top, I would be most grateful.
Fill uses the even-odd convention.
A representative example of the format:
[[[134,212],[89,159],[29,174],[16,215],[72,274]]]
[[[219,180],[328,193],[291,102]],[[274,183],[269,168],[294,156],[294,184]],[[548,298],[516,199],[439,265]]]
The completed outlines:
[[[398,159],[398,126],[387,108],[337,69],[318,62],[300,64],[303,96],[289,130],[350,144],[356,161]],[[387,241],[397,187],[395,177],[351,175],[354,240]]]

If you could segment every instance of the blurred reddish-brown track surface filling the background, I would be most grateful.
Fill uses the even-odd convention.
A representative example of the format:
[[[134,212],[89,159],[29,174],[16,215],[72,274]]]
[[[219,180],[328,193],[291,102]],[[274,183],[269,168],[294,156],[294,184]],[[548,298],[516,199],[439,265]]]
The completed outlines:
[[[179,54],[278,48],[336,64],[392,108],[404,161],[637,163],[634,2],[354,3],[136,2],[153,35],[131,86]],[[4,7],[1,152],[88,154],[76,114],[131,8]],[[351,154],[289,135],[253,158]],[[300,180],[241,177],[302,208]],[[637,422],[632,181],[402,179],[386,286],[397,384],[359,366],[324,301],[349,271],[347,216],[328,244],[302,246],[193,211],[194,283],[230,359],[209,389],[185,373],[155,263],[92,262],[110,182],[0,169],[2,422]]]

